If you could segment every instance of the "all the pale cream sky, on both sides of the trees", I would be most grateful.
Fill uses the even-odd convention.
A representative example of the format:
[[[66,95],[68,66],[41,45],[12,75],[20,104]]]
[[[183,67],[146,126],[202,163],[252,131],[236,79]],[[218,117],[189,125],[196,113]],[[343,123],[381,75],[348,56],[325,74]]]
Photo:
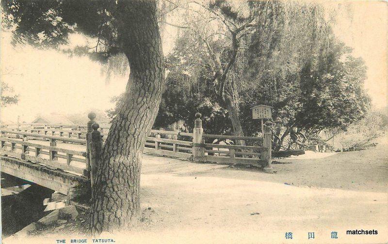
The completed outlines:
[[[365,88],[373,107],[387,106],[388,90],[388,5],[383,1],[331,1],[324,3],[329,14],[336,16],[333,30],[353,55],[362,57],[368,67]],[[176,30],[167,28],[163,50],[168,53]],[[17,105],[1,108],[1,121],[31,122],[38,114],[81,113],[113,107],[112,96],[125,90],[128,76],[114,76],[106,82],[102,66],[87,57],[70,58],[55,50],[37,50],[31,46],[13,48],[10,33],[1,33],[1,80],[19,94]],[[82,44],[74,35],[70,46]]]

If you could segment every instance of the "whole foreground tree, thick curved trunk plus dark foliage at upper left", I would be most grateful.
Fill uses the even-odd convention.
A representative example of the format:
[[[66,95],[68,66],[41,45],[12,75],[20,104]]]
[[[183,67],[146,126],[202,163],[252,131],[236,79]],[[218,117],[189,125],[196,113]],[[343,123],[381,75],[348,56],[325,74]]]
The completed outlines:
[[[143,148],[164,85],[155,1],[4,0],[1,7],[2,28],[13,32],[14,44],[60,47],[79,31],[94,46],[77,47],[75,53],[102,61],[122,53],[128,59],[124,99],[98,162],[90,228],[93,233],[129,228],[140,212]]]

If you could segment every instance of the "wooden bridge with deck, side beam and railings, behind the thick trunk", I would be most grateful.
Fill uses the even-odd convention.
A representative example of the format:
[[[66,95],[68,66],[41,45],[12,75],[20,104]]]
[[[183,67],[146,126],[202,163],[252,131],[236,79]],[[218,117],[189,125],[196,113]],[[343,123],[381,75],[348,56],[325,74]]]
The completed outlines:
[[[32,123],[1,127],[1,172],[67,196],[77,186],[93,182],[109,128],[100,128],[94,113],[88,117],[87,125]],[[144,153],[197,163],[245,164],[272,172],[271,133],[264,133],[264,137],[204,134],[200,117],[196,114],[193,133],[151,130]],[[246,145],[214,142],[226,139],[243,140]]]

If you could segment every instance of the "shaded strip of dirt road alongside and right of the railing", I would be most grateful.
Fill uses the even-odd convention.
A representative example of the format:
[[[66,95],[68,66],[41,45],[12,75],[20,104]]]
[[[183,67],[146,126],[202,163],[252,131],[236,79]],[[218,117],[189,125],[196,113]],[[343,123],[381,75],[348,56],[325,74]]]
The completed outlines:
[[[388,143],[381,138],[376,147],[340,153],[307,153],[293,158],[274,159],[275,174],[257,168],[186,163],[178,159],[144,156],[143,174],[171,173],[179,176],[211,176],[294,186],[384,192],[388,189]]]

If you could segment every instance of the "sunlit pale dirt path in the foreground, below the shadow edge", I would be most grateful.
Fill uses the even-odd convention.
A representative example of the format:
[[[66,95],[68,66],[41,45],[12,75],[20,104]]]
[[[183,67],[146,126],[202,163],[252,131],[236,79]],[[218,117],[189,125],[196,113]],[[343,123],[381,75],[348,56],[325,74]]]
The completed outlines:
[[[388,240],[385,193],[170,173],[144,174],[141,185],[143,224],[125,236],[103,233],[100,238],[113,238],[123,244]],[[378,235],[346,235],[346,230],[353,229],[375,229]],[[338,240],[330,239],[331,231],[338,232]],[[66,232],[65,228],[51,229],[34,238],[40,243],[77,238]],[[293,233],[292,240],[285,240],[286,232]],[[307,239],[308,232],[314,232],[314,240]],[[46,235],[44,240],[39,239]]]

